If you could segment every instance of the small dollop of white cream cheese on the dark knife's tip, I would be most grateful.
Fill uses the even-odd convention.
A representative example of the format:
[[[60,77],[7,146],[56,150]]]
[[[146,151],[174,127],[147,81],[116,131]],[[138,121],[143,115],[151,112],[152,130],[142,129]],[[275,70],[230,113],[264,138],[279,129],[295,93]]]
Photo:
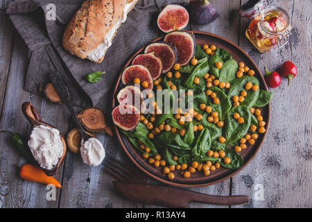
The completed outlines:
[[[105,150],[98,139],[90,138],[81,144],[80,154],[85,164],[96,167],[104,160]]]

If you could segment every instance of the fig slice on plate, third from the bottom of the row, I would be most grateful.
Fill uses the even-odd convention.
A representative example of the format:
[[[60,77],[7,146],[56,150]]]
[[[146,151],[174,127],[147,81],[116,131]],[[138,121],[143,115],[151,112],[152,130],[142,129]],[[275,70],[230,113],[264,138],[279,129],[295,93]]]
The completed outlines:
[[[121,76],[121,81],[124,85],[128,83],[133,83],[135,78],[139,78],[140,82],[146,81],[148,87],[143,87],[144,89],[153,89],[153,78],[150,76],[150,71],[143,65],[132,65],[123,71]]]

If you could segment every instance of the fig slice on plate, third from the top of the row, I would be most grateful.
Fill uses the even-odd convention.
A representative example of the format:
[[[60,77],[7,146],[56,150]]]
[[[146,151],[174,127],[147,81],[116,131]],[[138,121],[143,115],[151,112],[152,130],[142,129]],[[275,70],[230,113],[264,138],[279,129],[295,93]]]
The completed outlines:
[[[135,57],[132,61],[132,65],[143,65],[150,71],[150,76],[153,80],[158,78],[162,74],[162,60],[157,58],[155,53],[141,54]]]

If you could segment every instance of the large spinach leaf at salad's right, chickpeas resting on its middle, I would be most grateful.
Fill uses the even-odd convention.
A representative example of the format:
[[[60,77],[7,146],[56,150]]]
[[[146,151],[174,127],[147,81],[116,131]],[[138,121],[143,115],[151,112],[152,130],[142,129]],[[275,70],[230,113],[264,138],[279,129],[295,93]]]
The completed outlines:
[[[238,123],[237,120],[234,119],[233,114],[235,112],[238,112],[240,116],[244,118],[244,123]],[[239,105],[232,108],[225,118],[223,127],[223,135],[227,139],[227,144],[233,144],[245,136],[250,126],[250,119],[251,114],[247,107]]]

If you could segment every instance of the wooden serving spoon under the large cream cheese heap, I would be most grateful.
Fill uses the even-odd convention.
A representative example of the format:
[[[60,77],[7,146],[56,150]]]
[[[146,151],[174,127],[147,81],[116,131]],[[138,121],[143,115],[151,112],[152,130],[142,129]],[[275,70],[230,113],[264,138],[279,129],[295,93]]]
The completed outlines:
[[[32,103],[30,102],[23,103],[23,105],[21,105],[21,110],[23,111],[26,119],[31,123],[32,128],[35,128],[36,126],[40,126],[40,125],[55,128],[51,126],[50,124],[44,123],[44,121],[42,121],[40,114],[37,112],[37,110],[35,109]],[[53,167],[53,169],[44,169],[40,167],[48,176],[54,176],[56,173],[58,173],[58,169],[62,165],[62,162],[64,161],[64,157],[66,155],[67,146],[66,146],[66,142],[64,140],[62,133],[60,133],[60,137],[63,143],[63,154],[62,154],[62,157],[60,157],[60,160],[58,160],[58,164],[56,164],[55,167]],[[39,162],[37,163],[40,166]]]

